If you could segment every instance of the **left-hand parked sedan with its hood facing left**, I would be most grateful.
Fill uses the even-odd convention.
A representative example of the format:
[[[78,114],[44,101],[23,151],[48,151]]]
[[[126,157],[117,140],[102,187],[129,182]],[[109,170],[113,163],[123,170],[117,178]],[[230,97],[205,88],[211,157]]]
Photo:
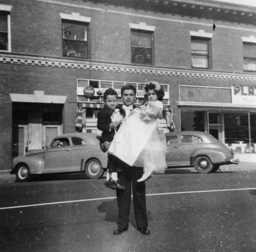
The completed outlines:
[[[14,158],[12,171],[18,182],[28,181],[32,174],[64,172],[85,172],[90,179],[98,179],[108,162],[98,137],[94,133],[57,136],[48,148],[29,150],[25,156]]]

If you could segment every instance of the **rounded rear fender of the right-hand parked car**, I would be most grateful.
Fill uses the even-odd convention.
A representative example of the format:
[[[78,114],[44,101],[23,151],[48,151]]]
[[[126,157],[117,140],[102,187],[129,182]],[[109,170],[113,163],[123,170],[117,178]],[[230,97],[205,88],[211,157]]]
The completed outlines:
[[[212,164],[224,164],[230,162],[232,155],[224,152],[223,149],[220,148],[209,148],[207,152],[205,148],[195,149],[190,156],[190,164],[194,165],[194,160],[198,156],[206,156],[210,159]]]

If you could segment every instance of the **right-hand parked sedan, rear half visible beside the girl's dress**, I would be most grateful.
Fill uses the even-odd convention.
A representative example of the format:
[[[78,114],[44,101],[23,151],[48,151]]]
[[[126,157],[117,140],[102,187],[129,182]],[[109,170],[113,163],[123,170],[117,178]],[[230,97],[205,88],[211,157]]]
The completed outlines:
[[[166,133],[165,137],[168,167],[194,166],[200,173],[209,173],[217,171],[220,165],[238,163],[232,150],[208,133],[180,131]]]

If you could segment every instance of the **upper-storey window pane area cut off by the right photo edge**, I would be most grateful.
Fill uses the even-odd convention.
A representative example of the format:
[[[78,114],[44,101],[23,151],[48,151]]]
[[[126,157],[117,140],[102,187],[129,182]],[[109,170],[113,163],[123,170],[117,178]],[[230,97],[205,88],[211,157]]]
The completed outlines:
[[[244,71],[256,71],[256,43],[243,42]]]

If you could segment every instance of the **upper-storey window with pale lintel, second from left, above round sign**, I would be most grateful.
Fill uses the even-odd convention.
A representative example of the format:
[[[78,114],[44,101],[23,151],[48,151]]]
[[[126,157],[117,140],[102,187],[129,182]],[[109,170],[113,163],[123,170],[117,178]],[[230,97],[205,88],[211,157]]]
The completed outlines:
[[[62,56],[89,59],[90,17],[79,13],[60,13],[62,19]]]

